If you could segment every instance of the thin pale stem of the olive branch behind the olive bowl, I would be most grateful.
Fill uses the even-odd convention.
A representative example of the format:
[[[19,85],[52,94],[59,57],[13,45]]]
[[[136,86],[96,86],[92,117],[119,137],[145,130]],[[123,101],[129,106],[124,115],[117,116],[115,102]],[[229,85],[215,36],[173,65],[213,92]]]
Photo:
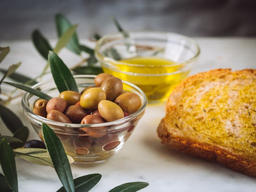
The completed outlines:
[[[74,68],[77,68],[77,67],[81,66],[82,64],[84,64],[87,60],[88,60],[88,58],[87,58],[87,59],[84,58],[84,59],[82,59],[80,62],[78,62],[76,65],[74,65],[73,67],[71,67],[71,68],[69,68],[69,69],[70,69],[70,70],[73,70]],[[48,63],[47,63],[46,65],[48,65]],[[44,69],[45,69],[45,68],[44,68]],[[44,76],[45,74],[47,74],[47,73],[49,73],[49,72],[50,72],[50,71],[47,72],[47,71],[44,71],[44,70],[43,70],[43,72],[42,72],[40,75],[38,75],[38,76],[36,76],[35,78],[33,78],[33,79],[27,81],[25,84],[29,84],[29,83],[35,81],[36,79],[38,79],[38,78]],[[18,88],[14,89],[14,90],[10,93],[10,96],[9,96],[9,98],[8,98],[7,100],[0,101],[0,105],[1,105],[1,104],[4,105],[4,104],[10,102],[10,101],[13,100],[13,99],[16,99],[16,98],[18,98],[18,97],[21,97],[21,96],[24,94],[24,92],[23,92],[23,93],[21,93],[21,94],[19,94],[19,95],[16,95],[15,97],[12,97],[12,94],[13,94],[14,92],[16,92],[17,90],[18,90]]]

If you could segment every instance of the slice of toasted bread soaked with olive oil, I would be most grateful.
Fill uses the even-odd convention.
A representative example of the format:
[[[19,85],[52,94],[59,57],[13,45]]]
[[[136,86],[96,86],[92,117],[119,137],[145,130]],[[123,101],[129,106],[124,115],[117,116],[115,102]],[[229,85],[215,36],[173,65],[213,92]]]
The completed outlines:
[[[256,69],[216,69],[172,91],[157,128],[162,143],[256,176]]]

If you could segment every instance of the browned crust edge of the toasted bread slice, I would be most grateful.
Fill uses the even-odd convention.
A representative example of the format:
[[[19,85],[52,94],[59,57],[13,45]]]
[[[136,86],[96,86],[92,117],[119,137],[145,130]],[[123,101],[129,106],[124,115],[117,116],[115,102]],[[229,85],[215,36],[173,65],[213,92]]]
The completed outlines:
[[[253,76],[254,78],[256,76],[255,69],[244,69],[234,72],[231,72],[231,69],[215,69],[190,76],[174,88],[166,104],[166,114],[168,114],[168,111],[170,110],[175,110],[172,102],[177,102],[179,92],[182,91],[184,87],[190,86],[195,81],[202,81],[202,77],[205,77],[205,75],[208,77],[212,76],[212,78],[220,78],[221,75],[228,73],[244,73],[246,76]],[[256,161],[252,161],[251,159],[246,158],[246,156],[235,154],[225,148],[184,137],[181,134],[177,134],[176,129],[177,127],[170,127],[168,123],[168,115],[166,115],[157,128],[157,134],[162,140],[161,142],[173,149],[180,150],[183,153],[214,161],[234,171],[256,177]]]

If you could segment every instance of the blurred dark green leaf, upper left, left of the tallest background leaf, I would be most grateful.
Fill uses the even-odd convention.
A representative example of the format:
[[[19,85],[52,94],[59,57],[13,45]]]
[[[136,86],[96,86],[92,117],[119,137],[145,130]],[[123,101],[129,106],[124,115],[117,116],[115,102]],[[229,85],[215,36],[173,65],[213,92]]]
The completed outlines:
[[[39,30],[34,30],[32,32],[32,41],[37,49],[37,51],[47,60],[48,52],[52,51],[52,47],[48,40],[40,33]]]

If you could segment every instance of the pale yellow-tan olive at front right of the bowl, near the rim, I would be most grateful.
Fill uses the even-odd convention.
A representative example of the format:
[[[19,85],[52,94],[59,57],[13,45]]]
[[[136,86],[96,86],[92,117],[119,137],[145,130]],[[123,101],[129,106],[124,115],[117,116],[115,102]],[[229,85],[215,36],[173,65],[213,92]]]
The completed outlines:
[[[98,106],[100,115],[108,122],[124,118],[123,110],[114,102],[102,100]]]

